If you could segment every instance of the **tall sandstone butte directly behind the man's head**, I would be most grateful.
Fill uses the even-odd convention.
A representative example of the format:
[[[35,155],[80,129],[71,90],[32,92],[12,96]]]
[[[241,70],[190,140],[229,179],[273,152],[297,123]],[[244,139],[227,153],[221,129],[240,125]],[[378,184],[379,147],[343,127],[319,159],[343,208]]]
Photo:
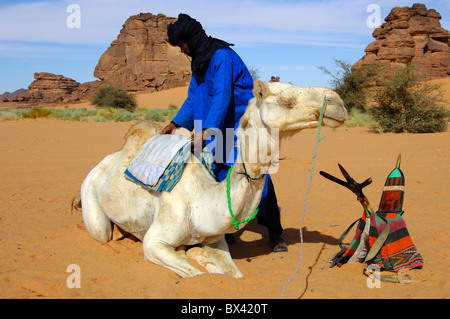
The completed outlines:
[[[159,91],[189,85],[189,58],[167,41],[176,18],[141,13],[131,16],[101,56],[94,76],[128,91]]]

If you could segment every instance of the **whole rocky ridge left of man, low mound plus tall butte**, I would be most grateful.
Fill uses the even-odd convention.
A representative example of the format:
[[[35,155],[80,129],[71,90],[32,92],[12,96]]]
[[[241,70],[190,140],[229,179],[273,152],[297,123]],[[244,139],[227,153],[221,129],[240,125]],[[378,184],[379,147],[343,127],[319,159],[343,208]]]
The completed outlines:
[[[100,86],[127,91],[160,91],[189,85],[190,59],[168,43],[167,27],[176,18],[151,13],[131,16],[95,68],[99,81],[78,83],[62,75],[35,73],[29,90],[0,102],[61,103],[92,99]]]

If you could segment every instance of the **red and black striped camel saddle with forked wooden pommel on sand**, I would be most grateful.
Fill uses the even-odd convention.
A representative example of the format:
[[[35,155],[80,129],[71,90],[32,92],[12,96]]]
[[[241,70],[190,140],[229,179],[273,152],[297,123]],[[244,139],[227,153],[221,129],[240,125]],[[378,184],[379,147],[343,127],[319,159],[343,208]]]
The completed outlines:
[[[377,212],[371,208],[369,200],[363,194],[363,187],[372,180],[356,183],[353,178],[339,165],[346,182],[328,173],[320,174],[340,185],[349,188],[357,195],[364,208],[362,217],[353,222],[340,236],[341,250],[331,259],[331,266],[341,267],[345,263],[364,262],[376,265],[380,270],[398,272],[401,269],[423,267],[423,258],[414,245],[403,219],[402,210],[405,193],[405,177],[400,169],[400,155],[397,165],[388,175]],[[357,225],[356,233],[349,245],[344,239],[350,230]],[[395,280],[385,280],[394,281]]]

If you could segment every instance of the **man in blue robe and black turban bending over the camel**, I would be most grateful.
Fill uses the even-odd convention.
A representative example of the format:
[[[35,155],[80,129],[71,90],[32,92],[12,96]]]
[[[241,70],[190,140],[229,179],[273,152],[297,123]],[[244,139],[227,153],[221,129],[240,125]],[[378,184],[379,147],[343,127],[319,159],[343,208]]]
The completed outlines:
[[[232,44],[207,36],[202,25],[187,14],[180,13],[178,20],[169,25],[167,34],[171,45],[179,46],[192,58],[192,79],[186,101],[161,134],[172,134],[178,127],[194,130],[195,153],[205,146],[214,131],[219,131],[222,140],[216,141],[213,149],[214,173],[217,180],[222,181],[238,155],[233,130],[238,128],[239,120],[253,98],[253,78],[241,58],[230,48]],[[259,224],[268,228],[272,250],[286,251],[281,237],[280,212],[269,175],[257,218]],[[226,238],[228,242],[233,240],[231,235]]]

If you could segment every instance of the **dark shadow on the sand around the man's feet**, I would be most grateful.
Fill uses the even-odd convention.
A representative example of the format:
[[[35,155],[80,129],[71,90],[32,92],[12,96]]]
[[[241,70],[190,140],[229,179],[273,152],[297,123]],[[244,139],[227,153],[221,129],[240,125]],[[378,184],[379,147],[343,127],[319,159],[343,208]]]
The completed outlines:
[[[254,232],[262,237],[252,241],[246,241],[242,238],[244,232]],[[304,243],[325,243],[337,246],[339,239],[333,236],[322,234],[318,231],[310,231],[306,227],[302,228]],[[272,253],[269,244],[269,233],[267,227],[259,225],[256,221],[248,223],[244,229],[234,233],[236,242],[228,244],[233,259],[250,259],[252,257],[268,255]],[[288,246],[300,243],[300,230],[295,228],[285,228],[283,231],[283,239]],[[278,254],[278,253],[277,253]],[[285,252],[279,253],[285,254]]]

